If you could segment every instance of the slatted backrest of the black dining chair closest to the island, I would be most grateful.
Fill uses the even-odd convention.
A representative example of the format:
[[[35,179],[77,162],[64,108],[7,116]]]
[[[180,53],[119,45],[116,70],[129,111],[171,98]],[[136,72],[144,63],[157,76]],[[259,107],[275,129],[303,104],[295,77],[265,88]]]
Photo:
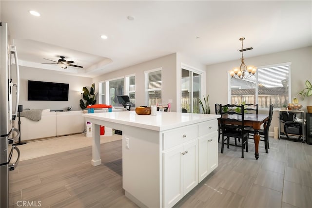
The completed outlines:
[[[227,107],[229,110],[227,112],[224,112],[222,109],[224,107]],[[227,104],[227,105],[222,105],[220,104],[220,109],[221,111],[221,118],[220,118],[220,126],[222,131],[226,131],[226,129],[229,129],[229,126],[231,129],[235,130],[240,130],[241,135],[243,136],[244,134],[244,105],[232,105],[232,104]],[[232,111],[233,109],[233,111]],[[226,123],[227,120],[231,120],[235,122],[235,125],[228,125]]]

